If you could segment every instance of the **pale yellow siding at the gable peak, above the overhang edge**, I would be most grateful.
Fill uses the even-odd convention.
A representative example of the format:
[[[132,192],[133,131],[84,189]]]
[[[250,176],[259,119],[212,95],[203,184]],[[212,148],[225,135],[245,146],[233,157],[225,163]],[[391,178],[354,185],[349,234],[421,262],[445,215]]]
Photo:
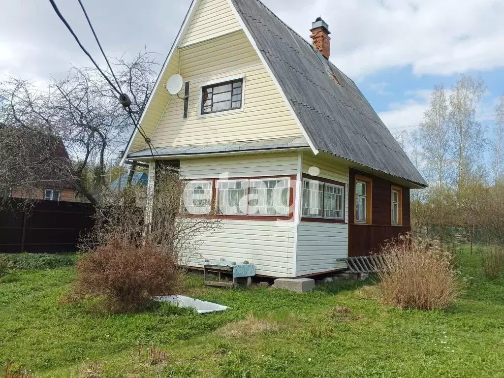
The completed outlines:
[[[240,29],[240,23],[227,0],[201,0],[180,46],[199,43]]]

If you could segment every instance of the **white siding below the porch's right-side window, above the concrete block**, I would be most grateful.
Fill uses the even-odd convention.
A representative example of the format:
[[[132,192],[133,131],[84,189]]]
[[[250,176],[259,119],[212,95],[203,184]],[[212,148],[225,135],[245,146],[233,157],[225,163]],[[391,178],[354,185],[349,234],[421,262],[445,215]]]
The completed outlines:
[[[348,256],[348,225],[300,222],[297,229],[296,276],[343,269]]]

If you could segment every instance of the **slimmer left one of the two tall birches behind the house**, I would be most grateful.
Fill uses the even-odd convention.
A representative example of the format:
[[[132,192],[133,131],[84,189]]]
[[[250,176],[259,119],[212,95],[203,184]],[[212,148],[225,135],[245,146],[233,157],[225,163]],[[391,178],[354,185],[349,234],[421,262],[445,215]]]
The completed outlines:
[[[445,186],[450,168],[450,122],[445,86],[438,84],[430,96],[430,107],[420,123],[419,139],[425,159],[425,173],[431,182]]]

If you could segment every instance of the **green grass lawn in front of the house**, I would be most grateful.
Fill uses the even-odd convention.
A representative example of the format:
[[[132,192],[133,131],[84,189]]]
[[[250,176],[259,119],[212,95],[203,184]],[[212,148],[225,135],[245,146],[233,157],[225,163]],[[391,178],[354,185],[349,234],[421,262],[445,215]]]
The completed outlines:
[[[14,359],[47,377],[504,377],[504,279],[483,279],[476,255],[462,270],[474,284],[431,312],[383,306],[369,282],[296,294],[190,276],[186,294],[232,307],[203,316],[168,305],[93,314],[59,304],[75,268],[18,271],[0,279],[0,366]],[[159,363],[152,345],[166,351]]]

